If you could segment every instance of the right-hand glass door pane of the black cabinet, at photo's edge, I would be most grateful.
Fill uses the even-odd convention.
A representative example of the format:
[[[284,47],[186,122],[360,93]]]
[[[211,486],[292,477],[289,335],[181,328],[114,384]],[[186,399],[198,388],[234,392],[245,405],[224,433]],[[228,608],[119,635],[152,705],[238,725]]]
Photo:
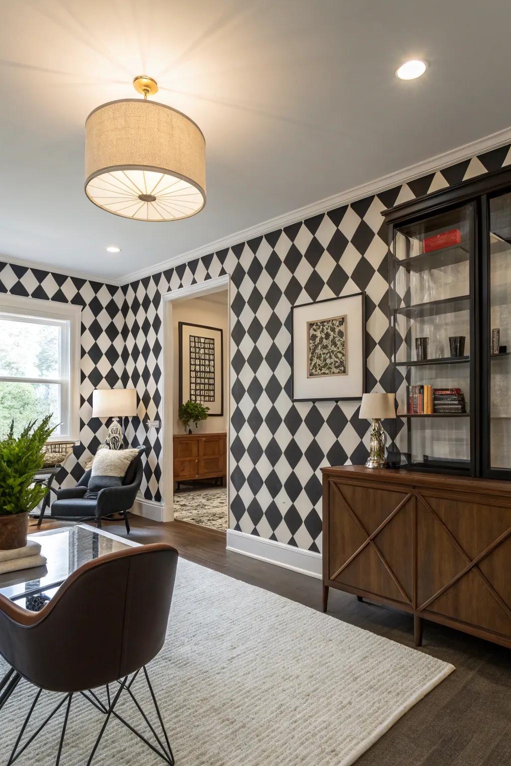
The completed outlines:
[[[489,467],[511,470],[511,193],[490,199],[489,222]]]

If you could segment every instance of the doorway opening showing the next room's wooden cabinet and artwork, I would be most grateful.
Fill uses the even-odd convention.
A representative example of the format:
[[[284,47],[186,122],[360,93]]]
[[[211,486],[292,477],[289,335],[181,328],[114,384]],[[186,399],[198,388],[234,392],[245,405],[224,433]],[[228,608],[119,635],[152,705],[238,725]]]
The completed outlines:
[[[165,296],[169,302],[165,310],[165,516],[225,532],[229,507],[228,279],[215,283]],[[195,421],[197,413],[190,402],[205,408],[204,419]],[[188,421],[187,410],[192,415]],[[172,516],[168,499],[172,499]]]

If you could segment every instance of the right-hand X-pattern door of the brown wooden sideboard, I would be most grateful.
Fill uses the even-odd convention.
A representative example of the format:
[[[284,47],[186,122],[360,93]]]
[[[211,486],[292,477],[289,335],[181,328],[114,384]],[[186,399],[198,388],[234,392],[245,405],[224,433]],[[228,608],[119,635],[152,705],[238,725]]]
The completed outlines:
[[[417,493],[418,614],[511,637],[511,507],[505,502]]]

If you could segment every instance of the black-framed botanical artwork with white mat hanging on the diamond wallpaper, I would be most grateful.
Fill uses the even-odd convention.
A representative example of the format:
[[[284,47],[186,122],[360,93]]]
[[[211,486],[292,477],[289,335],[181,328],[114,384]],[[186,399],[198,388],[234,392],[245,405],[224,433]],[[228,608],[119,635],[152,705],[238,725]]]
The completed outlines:
[[[293,401],[362,399],[365,293],[291,308]]]

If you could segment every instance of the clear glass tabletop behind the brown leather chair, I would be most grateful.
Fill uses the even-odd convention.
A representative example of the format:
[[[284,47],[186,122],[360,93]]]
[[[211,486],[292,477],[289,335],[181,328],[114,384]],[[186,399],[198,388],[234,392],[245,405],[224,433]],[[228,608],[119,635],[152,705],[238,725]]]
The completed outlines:
[[[39,594],[51,597],[64,580],[86,561],[139,545],[86,524],[37,532],[28,535],[28,539],[41,544],[41,555],[46,557],[46,565],[0,575],[0,593],[20,606],[28,606],[22,599],[26,601]]]

